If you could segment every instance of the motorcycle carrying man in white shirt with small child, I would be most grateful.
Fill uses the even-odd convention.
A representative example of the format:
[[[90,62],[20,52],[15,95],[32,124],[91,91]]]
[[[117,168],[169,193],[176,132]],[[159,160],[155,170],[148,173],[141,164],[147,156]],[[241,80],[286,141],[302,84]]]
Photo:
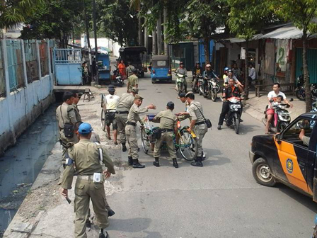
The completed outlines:
[[[289,101],[293,101],[293,98],[291,98]],[[272,102],[273,101],[270,100],[270,103]],[[266,125],[267,123],[267,108],[268,106],[266,106],[265,108],[265,118],[262,119],[264,125]],[[272,108],[274,109],[274,114],[277,115],[277,118],[273,118],[273,120],[271,121],[270,130],[272,132],[279,133],[282,130],[284,130],[284,128],[286,128],[291,122],[290,113],[286,109],[289,108],[289,105],[286,103],[279,103],[277,105],[272,106]]]

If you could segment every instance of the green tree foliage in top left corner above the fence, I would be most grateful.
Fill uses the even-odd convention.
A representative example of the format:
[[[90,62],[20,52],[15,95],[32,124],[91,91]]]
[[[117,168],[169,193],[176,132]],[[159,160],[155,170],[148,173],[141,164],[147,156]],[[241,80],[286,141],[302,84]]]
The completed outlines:
[[[23,23],[32,16],[34,11],[44,3],[44,0],[6,0],[0,4],[0,28],[8,28]]]

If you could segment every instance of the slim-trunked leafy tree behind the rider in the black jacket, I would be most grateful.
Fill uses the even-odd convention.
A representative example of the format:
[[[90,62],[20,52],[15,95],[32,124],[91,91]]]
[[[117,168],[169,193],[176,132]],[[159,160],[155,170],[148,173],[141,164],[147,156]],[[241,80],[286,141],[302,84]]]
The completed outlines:
[[[284,1],[284,0],[283,0]],[[228,0],[230,8],[228,25],[231,33],[246,40],[245,100],[248,99],[249,41],[263,26],[274,21],[270,0]]]

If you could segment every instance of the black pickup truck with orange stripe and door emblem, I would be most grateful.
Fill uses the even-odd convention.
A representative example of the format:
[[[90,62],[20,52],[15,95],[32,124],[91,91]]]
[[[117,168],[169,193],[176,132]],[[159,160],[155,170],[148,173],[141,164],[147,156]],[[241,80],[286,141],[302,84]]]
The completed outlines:
[[[254,136],[249,157],[255,181],[284,183],[317,202],[316,145],[317,113],[300,115],[277,135]]]

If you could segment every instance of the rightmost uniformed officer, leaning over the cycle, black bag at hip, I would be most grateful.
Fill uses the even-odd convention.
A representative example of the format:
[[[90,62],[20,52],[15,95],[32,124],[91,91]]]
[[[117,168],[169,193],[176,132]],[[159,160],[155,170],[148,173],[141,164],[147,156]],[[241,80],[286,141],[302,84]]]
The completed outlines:
[[[206,134],[208,128],[204,120],[204,113],[202,111],[202,104],[200,102],[195,101],[195,94],[188,93],[186,94],[186,98],[188,103],[190,103],[190,107],[188,111],[190,113],[190,117],[192,120],[190,121],[189,130],[193,130],[197,136],[197,157],[195,162],[192,162],[192,166],[202,167],[202,139]]]

